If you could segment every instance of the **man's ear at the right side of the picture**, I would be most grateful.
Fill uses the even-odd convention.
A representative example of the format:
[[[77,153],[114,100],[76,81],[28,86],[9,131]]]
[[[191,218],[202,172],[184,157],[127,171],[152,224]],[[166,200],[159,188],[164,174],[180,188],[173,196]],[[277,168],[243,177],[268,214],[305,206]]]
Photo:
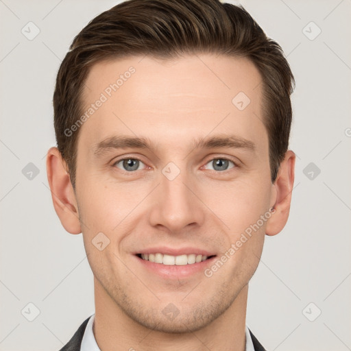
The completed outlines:
[[[267,235],[278,234],[287,223],[294,177],[295,154],[288,150],[284,160],[280,163],[276,181],[272,184],[271,207],[274,208],[274,211],[272,211],[273,215],[267,221]]]

